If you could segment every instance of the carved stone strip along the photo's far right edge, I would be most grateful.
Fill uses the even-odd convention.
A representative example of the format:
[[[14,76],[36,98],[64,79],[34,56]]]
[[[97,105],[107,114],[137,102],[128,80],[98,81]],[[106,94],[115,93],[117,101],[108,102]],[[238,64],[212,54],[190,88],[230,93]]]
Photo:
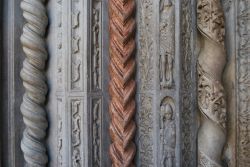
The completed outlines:
[[[238,0],[237,166],[250,164],[250,1]]]

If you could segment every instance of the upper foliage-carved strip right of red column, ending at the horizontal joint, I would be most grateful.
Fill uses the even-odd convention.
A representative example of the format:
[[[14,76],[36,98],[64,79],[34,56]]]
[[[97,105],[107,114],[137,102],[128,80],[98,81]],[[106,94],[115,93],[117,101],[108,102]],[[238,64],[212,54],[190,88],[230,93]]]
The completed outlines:
[[[138,1],[138,63],[140,72],[140,90],[152,87],[153,79],[153,0]]]

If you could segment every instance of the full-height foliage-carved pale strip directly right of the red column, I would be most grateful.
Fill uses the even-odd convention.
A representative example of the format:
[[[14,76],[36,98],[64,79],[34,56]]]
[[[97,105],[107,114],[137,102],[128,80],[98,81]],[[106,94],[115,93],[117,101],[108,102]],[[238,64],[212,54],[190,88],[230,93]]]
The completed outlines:
[[[154,166],[153,153],[153,60],[154,53],[154,15],[153,0],[137,2],[137,164],[142,167]]]

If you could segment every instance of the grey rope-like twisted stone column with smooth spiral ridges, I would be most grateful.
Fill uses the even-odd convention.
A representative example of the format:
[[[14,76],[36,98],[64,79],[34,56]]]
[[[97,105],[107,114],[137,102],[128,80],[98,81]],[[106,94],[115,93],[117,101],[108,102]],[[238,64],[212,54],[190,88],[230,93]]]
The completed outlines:
[[[47,85],[45,62],[47,50],[45,46],[45,31],[48,23],[45,0],[23,0],[21,8],[27,23],[23,27],[21,43],[25,60],[21,70],[21,78],[25,88],[21,112],[25,130],[21,141],[26,166],[46,166],[48,158],[44,138],[48,126],[44,102]]]

